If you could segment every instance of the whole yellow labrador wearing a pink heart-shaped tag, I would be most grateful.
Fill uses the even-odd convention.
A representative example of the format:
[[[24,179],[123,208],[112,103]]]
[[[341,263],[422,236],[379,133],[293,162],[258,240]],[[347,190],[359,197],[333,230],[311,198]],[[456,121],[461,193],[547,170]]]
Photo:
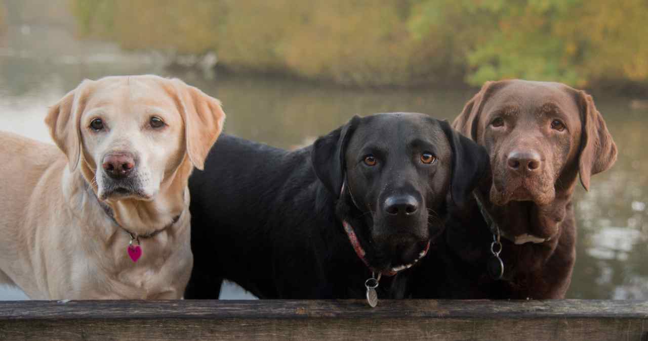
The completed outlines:
[[[116,76],[51,107],[58,148],[0,133],[0,284],[38,300],[181,298],[187,180],[224,119],[180,80]]]

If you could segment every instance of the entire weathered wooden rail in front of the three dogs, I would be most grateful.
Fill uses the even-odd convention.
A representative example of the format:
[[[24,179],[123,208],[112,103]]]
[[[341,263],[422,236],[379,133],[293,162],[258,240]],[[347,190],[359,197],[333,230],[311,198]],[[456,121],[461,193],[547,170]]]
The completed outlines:
[[[641,340],[648,301],[0,302],[0,340]]]

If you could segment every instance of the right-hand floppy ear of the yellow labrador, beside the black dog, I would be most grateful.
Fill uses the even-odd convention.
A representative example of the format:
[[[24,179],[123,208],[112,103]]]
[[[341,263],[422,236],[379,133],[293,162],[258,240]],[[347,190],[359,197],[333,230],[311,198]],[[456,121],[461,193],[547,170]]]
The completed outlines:
[[[209,149],[223,130],[225,113],[220,101],[181,80],[171,80],[178,93],[178,107],[185,122],[189,160],[203,170]]]

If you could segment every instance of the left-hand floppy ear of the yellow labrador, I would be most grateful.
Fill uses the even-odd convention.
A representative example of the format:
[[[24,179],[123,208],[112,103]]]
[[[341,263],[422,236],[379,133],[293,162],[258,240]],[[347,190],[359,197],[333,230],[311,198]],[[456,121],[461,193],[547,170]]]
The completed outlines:
[[[67,156],[70,171],[75,171],[81,155],[81,114],[86,107],[87,91],[91,80],[84,80],[76,89],[67,93],[49,108],[45,124],[49,134]]]

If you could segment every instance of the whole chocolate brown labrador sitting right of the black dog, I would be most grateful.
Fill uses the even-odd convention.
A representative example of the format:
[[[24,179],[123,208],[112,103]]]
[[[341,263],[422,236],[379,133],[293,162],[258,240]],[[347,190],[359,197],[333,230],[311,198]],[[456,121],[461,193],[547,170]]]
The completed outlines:
[[[592,96],[561,83],[487,82],[453,126],[485,146],[491,176],[478,199],[450,214],[414,296],[563,298],[575,261],[577,177],[587,190],[617,154]]]

